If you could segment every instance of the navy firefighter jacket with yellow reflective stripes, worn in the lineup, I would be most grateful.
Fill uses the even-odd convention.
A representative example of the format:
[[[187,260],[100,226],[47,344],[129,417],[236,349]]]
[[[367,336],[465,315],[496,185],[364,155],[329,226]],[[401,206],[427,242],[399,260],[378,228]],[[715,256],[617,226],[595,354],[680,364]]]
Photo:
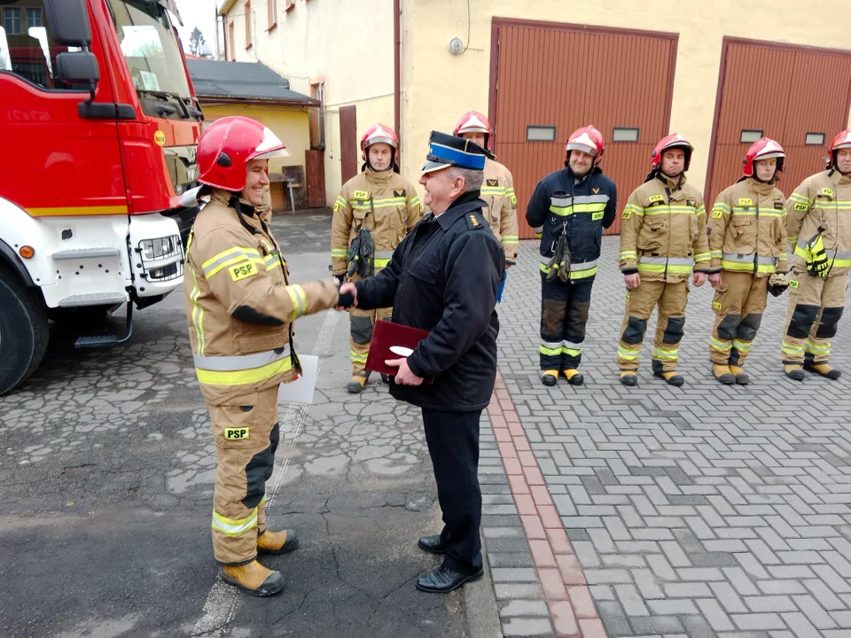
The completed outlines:
[[[570,167],[544,177],[532,193],[526,219],[535,233],[543,233],[542,258],[552,256],[558,236],[565,231],[571,261],[596,262],[603,229],[612,225],[617,213],[617,190],[598,167],[591,168],[579,183],[574,182]]]

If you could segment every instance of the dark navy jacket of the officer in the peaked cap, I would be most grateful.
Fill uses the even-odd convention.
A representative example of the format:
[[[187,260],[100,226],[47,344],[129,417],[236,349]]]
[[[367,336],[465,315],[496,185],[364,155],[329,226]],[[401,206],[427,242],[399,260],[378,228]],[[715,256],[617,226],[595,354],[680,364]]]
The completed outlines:
[[[496,380],[496,290],[505,254],[481,214],[479,192],[429,213],[377,275],[357,282],[357,307],[393,307],[392,321],[429,331],[408,357],[432,385],[396,385],[390,393],[420,408],[474,411],[490,402]]]

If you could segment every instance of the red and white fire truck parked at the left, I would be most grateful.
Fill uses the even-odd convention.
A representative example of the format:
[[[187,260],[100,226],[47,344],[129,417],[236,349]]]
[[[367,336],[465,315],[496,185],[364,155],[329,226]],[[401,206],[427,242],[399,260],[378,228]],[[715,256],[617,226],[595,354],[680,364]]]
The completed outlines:
[[[174,0],[0,0],[0,394],[49,321],[122,343],[134,306],[183,283],[203,117],[172,17]]]

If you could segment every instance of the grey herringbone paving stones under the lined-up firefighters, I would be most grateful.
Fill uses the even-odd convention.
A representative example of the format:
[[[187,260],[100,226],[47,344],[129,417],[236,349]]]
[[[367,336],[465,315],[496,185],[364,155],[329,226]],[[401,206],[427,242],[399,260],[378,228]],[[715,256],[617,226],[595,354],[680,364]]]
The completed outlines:
[[[692,286],[678,369],[686,385],[652,377],[652,319],[639,386],[626,388],[615,362],[625,292],[618,250],[618,237],[604,238],[583,387],[538,380],[535,242],[521,245],[498,307],[504,383],[606,632],[851,636],[849,320],[831,358],[848,376],[796,383],[779,359],[788,298],[769,297],[746,365],[751,385],[722,386],[708,363],[711,288]],[[504,632],[516,616],[535,622],[513,635],[550,635],[528,544],[488,531],[490,515],[512,507],[504,480],[483,486]],[[500,564],[502,554],[510,562]]]

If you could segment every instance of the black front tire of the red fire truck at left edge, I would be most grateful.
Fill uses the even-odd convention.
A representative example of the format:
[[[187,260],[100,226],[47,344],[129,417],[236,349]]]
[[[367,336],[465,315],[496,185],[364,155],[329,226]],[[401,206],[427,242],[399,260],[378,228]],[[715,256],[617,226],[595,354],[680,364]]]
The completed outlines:
[[[50,331],[38,289],[0,270],[0,395],[18,387],[42,362]]]

